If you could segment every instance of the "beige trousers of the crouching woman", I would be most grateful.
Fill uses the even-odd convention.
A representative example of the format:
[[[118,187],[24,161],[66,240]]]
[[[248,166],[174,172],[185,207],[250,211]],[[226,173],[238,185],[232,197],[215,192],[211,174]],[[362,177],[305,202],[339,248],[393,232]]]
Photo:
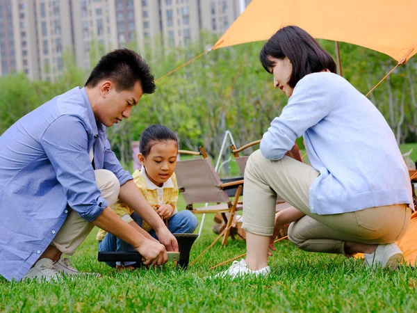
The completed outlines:
[[[277,195],[306,216],[291,223],[288,239],[302,250],[345,254],[345,241],[393,243],[407,230],[407,204],[373,207],[345,214],[318,215],[309,209],[309,187],[320,173],[295,159],[265,159],[254,152],[245,168],[243,225],[253,234],[272,236]]]

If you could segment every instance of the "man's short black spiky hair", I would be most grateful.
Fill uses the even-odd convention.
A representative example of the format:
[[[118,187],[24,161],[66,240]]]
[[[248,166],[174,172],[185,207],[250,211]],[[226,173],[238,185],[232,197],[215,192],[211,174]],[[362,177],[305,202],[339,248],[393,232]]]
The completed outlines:
[[[154,93],[154,75],[149,65],[135,51],[116,49],[101,57],[92,70],[85,87],[95,87],[100,81],[108,79],[115,84],[117,92],[132,90],[136,82],[142,86],[143,93]]]

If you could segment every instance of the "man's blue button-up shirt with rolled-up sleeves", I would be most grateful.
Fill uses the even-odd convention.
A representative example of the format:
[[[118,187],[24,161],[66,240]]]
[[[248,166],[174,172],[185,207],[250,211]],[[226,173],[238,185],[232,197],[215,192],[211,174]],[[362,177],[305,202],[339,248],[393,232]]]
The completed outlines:
[[[92,221],[107,207],[95,169],[132,179],[97,123],[85,89],[38,107],[0,136],[0,274],[21,280],[49,246],[70,208]]]

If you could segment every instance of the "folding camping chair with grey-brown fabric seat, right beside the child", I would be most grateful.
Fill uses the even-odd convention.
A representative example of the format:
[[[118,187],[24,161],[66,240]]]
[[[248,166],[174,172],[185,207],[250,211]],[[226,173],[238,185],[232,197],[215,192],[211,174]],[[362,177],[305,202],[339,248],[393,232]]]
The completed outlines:
[[[243,208],[243,205],[238,202],[243,180],[222,184],[218,173],[215,172],[210,159],[208,159],[204,147],[200,147],[199,152],[179,150],[179,154],[200,156],[197,159],[177,161],[175,175],[177,175],[179,191],[186,201],[186,208],[194,214],[220,213],[226,222],[227,228],[229,228],[234,221],[235,212]],[[236,187],[234,200],[231,201],[226,191]],[[208,202],[217,204],[206,207],[194,207],[194,204]],[[229,218],[227,218],[225,213],[229,213]],[[229,234],[230,230],[224,233],[223,245],[227,243]]]

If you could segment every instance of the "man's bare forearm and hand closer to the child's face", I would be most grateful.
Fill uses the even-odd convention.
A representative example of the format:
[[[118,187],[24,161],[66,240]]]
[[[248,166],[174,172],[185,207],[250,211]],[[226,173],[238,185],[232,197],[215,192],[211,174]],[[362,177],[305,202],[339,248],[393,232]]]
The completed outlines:
[[[167,248],[168,251],[178,251],[177,239],[167,229],[161,217],[152,209],[139,188],[129,180],[120,186],[119,199],[133,211],[138,213],[152,229],[155,230],[159,241]]]

